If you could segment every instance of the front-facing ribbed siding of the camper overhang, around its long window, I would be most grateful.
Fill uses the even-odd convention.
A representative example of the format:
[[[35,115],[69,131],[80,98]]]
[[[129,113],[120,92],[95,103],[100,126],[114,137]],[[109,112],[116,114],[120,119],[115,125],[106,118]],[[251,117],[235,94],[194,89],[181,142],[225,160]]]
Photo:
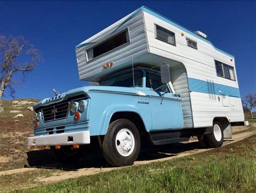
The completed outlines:
[[[86,50],[125,29],[129,32],[129,43],[89,60]],[[98,81],[107,74],[121,70],[124,66],[131,67],[132,56],[139,59],[145,54],[147,54],[147,43],[143,12],[137,10],[76,46],[79,78],[80,80]],[[111,61],[112,67],[103,68],[104,64],[106,65],[107,62],[110,64]]]

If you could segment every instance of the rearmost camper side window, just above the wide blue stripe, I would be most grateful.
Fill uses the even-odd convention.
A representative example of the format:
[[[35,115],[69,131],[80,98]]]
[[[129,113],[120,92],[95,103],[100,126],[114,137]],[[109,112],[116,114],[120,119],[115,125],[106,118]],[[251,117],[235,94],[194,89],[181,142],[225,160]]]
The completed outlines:
[[[216,72],[219,77],[235,80],[234,67],[215,60]]]

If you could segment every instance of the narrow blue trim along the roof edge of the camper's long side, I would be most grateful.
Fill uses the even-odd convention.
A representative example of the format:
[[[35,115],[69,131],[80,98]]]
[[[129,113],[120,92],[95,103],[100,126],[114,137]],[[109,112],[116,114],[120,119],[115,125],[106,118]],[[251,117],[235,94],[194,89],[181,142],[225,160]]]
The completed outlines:
[[[197,34],[194,33],[193,31],[186,29],[186,27],[183,27],[183,26],[181,26],[180,24],[178,24],[178,23],[176,23],[176,22],[173,22],[171,19],[168,19],[168,18],[166,18],[166,17],[160,15],[159,13],[157,13],[157,12],[155,12],[155,11],[153,11],[153,10],[151,10],[151,9],[149,9],[149,8],[147,8],[147,7],[145,7],[145,6],[143,6],[142,8],[139,8],[139,9],[142,9],[143,11],[145,11],[145,12],[147,12],[147,13],[150,13],[151,15],[153,15],[153,16],[159,18],[159,19],[164,20],[165,22],[170,23],[171,25],[174,25],[174,26],[178,27],[180,30],[183,30],[183,31],[185,31],[186,33],[189,33],[190,35],[192,35],[192,36],[194,36],[194,37],[197,37],[197,38],[203,40],[204,42],[206,42],[206,43],[208,43],[208,44],[211,44],[211,45],[214,47],[215,50],[217,50],[217,51],[219,51],[219,52],[221,52],[221,53],[224,53],[224,54],[226,54],[227,56],[229,56],[229,57],[231,57],[231,58],[234,58],[234,56],[233,56],[232,54],[227,53],[227,52],[225,52],[225,51],[223,51],[223,50],[220,50],[218,47],[215,47],[208,39],[205,39],[205,38],[203,38],[203,37],[197,35]]]

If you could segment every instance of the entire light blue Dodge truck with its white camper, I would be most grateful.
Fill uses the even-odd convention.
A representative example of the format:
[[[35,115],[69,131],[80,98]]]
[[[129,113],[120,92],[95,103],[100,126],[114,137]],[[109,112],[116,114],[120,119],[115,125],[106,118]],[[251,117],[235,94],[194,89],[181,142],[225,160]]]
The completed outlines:
[[[55,91],[33,107],[28,145],[50,146],[59,161],[76,161],[97,137],[107,162],[128,166],[145,138],[220,147],[231,123],[244,123],[234,56],[145,6],[77,45],[76,56],[80,80],[99,86]]]

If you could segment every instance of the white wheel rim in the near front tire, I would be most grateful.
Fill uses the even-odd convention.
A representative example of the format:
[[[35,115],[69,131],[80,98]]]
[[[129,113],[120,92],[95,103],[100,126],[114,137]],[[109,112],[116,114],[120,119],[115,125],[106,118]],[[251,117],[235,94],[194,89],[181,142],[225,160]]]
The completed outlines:
[[[126,157],[132,154],[135,147],[135,140],[129,129],[121,129],[116,136],[116,148],[120,155]]]

